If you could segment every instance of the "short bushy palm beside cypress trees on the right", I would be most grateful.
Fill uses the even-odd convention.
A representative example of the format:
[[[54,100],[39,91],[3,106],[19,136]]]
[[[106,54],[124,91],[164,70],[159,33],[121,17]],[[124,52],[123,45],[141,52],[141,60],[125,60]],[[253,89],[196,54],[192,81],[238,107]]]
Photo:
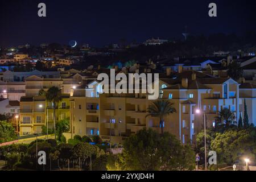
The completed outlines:
[[[221,109],[221,111],[218,112],[218,117],[215,117],[218,125],[221,125],[222,122],[225,122],[226,126],[230,126],[234,123],[234,119],[236,116],[232,111],[230,111],[228,108]]]

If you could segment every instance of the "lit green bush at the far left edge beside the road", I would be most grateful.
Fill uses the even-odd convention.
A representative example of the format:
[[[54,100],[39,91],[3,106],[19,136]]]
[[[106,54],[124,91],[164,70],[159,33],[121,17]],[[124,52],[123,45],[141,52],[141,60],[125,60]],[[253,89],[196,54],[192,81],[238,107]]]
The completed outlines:
[[[0,121],[0,143],[10,142],[17,139],[15,129],[6,121]]]

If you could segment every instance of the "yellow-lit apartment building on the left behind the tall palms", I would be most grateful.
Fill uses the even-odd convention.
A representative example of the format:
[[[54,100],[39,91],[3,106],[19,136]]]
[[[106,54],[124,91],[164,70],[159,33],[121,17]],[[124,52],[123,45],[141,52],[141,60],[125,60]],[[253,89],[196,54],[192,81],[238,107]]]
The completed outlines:
[[[62,100],[56,108],[56,122],[70,118],[69,94],[63,94]],[[42,133],[42,126],[53,128],[53,107],[45,97],[22,97],[20,98],[19,126],[20,135]]]

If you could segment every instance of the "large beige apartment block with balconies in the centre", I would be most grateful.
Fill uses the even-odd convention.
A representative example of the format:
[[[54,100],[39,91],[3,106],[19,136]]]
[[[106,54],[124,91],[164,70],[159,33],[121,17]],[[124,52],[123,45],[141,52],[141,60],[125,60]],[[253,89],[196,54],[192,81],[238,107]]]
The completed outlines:
[[[147,94],[102,94],[97,81],[75,89],[71,97],[72,135],[100,135],[102,140],[118,143],[143,128],[160,133],[164,127],[181,142],[189,143],[203,129],[203,113],[208,127],[214,126],[214,117],[223,108],[239,116],[239,84],[231,78],[185,71],[175,77],[160,77],[159,91],[159,99],[170,100],[177,110],[164,118],[163,126],[159,118],[146,118],[147,107],[154,101],[148,100]],[[196,109],[201,114],[196,114]]]

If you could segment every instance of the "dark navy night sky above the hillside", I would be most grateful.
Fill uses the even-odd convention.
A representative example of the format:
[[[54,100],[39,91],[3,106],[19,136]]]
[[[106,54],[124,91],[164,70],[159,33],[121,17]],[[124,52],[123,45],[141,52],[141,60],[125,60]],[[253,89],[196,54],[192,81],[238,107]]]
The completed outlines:
[[[46,3],[46,18],[38,16],[40,2]],[[217,4],[217,18],[208,16],[210,2]],[[69,40],[105,46],[122,38],[128,42],[181,38],[185,26],[193,35],[241,35],[256,29],[255,8],[253,0],[0,0],[0,46]]]

